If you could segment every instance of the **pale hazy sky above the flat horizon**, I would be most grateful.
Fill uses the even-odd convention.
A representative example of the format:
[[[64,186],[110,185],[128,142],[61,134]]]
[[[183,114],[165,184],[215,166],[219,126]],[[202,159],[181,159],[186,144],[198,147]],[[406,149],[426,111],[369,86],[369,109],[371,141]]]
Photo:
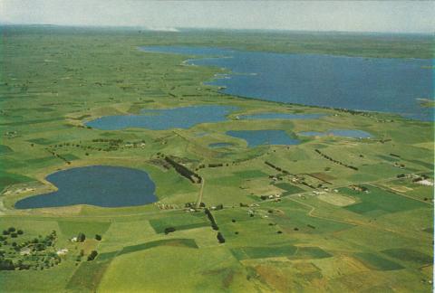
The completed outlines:
[[[1,24],[434,33],[435,1],[0,0]]]

